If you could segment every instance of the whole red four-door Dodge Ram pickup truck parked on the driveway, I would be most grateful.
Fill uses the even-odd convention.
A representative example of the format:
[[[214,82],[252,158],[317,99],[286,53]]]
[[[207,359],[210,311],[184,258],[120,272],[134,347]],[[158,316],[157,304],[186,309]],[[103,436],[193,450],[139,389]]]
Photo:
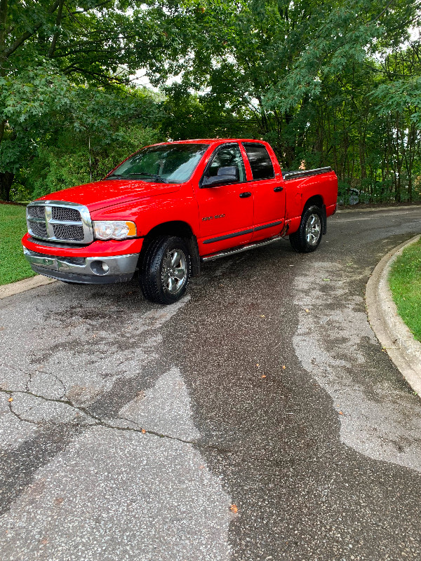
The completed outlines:
[[[119,283],[139,271],[147,299],[172,304],[201,264],[289,236],[314,251],[336,210],[330,168],[283,173],[261,140],[142,148],[104,180],[29,203],[25,255],[67,283]]]

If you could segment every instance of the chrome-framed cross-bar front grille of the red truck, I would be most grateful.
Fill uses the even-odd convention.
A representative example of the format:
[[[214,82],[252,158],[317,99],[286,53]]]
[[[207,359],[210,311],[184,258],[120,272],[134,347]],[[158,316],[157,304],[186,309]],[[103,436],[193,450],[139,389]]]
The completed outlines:
[[[86,206],[64,201],[34,201],[27,206],[28,231],[34,238],[60,243],[93,241],[91,215]]]

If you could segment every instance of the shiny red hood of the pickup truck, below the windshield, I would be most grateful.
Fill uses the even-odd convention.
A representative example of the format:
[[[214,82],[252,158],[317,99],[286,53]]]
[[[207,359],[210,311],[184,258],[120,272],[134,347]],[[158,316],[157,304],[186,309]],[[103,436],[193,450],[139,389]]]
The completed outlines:
[[[140,198],[165,195],[180,190],[176,183],[155,183],[139,180],[103,180],[78,187],[55,191],[39,198],[39,201],[67,201],[85,205],[89,210],[99,210]]]

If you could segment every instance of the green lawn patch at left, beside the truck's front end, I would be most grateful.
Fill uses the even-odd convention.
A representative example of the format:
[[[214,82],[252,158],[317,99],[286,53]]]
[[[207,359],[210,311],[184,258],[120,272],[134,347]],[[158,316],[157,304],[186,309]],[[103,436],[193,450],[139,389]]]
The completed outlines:
[[[0,285],[35,274],[20,243],[26,231],[25,206],[0,204]]]

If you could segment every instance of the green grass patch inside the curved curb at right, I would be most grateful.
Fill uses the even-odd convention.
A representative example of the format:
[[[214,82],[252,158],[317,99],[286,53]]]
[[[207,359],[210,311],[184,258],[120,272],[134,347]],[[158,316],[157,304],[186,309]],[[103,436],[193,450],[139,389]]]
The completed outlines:
[[[403,321],[421,341],[421,241],[403,250],[389,276],[394,302]]]

